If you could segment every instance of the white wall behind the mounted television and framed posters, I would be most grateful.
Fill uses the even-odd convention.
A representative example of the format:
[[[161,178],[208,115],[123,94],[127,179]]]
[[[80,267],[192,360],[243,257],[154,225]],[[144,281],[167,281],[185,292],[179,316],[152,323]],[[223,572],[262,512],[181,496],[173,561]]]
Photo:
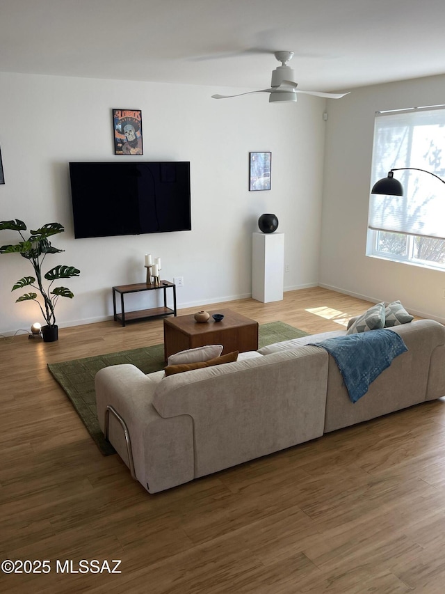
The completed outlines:
[[[285,288],[318,283],[325,101],[301,96],[298,104],[278,105],[264,94],[210,97],[226,91],[232,90],[0,73],[6,180],[0,220],[65,226],[53,241],[65,253],[49,256],[47,267],[74,265],[81,276],[63,283],[75,297],[59,300],[60,326],[109,318],[111,287],[145,281],[147,252],[161,256],[163,278],[184,276],[179,307],[249,297],[252,232],[262,212],[277,214],[285,234]],[[113,108],[142,110],[143,157],[113,155]],[[272,189],[248,192],[249,151],[262,150],[272,151]],[[113,159],[190,161],[193,229],[74,240],[68,162]],[[11,242],[15,233],[0,233],[0,244]],[[15,304],[22,293],[10,290],[31,274],[18,255],[0,256],[1,334],[42,322],[38,306]],[[129,305],[137,308],[138,299]]]

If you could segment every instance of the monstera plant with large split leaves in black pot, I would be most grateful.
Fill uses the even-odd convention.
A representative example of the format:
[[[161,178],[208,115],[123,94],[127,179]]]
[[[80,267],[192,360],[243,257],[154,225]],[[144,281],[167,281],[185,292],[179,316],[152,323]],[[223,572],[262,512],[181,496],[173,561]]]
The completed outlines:
[[[0,247],[0,253],[19,253],[20,256],[30,261],[35,272],[35,276],[24,276],[23,279],[17,281],[12,290],[31,286],[40,292],[43,300],[42,304],[37,300],[38,295],[36,292],[29,292],[19,297],[16,303],[36,299],[40,311],[42,311],[44,321],[47,322],[47,325],[42,327],[43,340],[45,342],[56,341],[58,339],[58,326],[56,325],[54,308],[59,297],[69,297],[72,299],[74,293],[66,287],[55,287],[52,289],[51,287],[54,281],[58,279],[70,279],[72,276],[79,276],[80,270],[74,268],[74,266],[58,265],[48,270],[42,277],[42,264],[48,253],[65,251],[64,249],[53,247],[48,240],[48,237],[51,235],[63,233],[65,229],[60,223],[47,223],[37,230],[31,229],[31,235],[28,239],[23,234],[26,231],[26,225],[19,219],[15,219],[15,221],[0,221],[0,230],[5,229],[18,231],[20,237],[22,237],[22,241],[15,245],[2,245]],[[44,279],[49,282],[49,284],[45,283],[47,285],[46,288],[44,286]]]

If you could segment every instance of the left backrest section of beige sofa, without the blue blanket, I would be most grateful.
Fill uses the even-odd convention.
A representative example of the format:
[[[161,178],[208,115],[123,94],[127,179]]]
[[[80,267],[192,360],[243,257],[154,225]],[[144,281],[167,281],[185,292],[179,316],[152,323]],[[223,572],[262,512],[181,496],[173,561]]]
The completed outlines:
[[[306,346],[165,377],[152,405],[193,419],[195,476],[323,434],[327,353]]]

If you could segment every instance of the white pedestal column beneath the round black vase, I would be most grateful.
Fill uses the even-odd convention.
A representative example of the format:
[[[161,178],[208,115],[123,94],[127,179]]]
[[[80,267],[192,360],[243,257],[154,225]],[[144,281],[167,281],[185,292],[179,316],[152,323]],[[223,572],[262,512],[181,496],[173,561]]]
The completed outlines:
[[[284,233],[252,234],[252,297],[263,303],[282,301]]]

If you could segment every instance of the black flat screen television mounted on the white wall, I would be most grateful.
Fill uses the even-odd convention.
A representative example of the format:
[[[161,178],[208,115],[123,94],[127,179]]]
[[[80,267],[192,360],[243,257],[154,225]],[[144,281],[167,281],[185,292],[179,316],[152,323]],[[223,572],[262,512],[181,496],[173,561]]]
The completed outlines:
[[[190,162],[70,163],[74,237],[191,230]]]

